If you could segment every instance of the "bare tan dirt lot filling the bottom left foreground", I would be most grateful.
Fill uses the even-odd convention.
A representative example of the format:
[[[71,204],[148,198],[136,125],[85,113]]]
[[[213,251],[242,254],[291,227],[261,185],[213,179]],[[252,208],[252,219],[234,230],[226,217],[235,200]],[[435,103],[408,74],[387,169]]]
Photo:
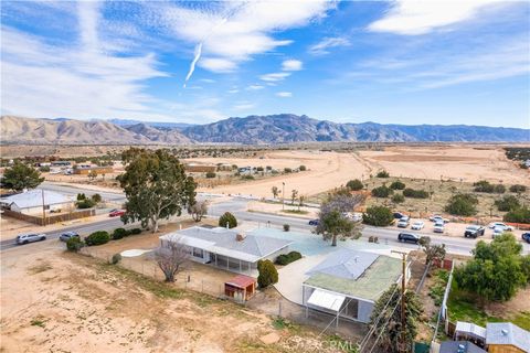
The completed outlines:
[[[308,328],[275,329],[263,313],[66,254],[59,242],[3,252],[1,275],[1,352],[335,351]]]

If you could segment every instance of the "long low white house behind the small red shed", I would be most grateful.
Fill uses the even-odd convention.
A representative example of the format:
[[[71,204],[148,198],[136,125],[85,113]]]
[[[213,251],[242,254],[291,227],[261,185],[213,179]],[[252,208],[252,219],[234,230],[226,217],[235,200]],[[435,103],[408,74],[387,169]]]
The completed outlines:
[[[167,242],[184,244],[194,261],[251,276],[256,274],[258,260],[274,261],[278,255],[287,254],[293,243],[223,227],[199,226],[162,235],[160,242],[162,247]]]

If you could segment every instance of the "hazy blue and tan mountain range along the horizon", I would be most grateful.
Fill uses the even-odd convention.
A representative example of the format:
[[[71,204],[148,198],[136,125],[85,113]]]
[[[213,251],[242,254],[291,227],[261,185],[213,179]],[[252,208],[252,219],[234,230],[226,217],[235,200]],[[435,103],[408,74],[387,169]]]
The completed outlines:
[[[530,142],[530,129],[466,125],[339,124],[293,114],[227,118],[206,125],[2,116],[0,133],[2,145]]]

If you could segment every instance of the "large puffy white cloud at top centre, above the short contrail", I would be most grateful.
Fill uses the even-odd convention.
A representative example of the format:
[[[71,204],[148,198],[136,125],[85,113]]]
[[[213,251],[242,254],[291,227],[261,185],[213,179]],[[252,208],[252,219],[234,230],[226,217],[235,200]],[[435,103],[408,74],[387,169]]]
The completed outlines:
[[[290,44],[290,40],[275,39],[273,33],[322,18],[336,3],[311,0],[201,2],[186,8],[159,2],[145,2],[144,6],[148,8],[144,17],[153,25],[163,25],[192,46],[203,43],[205,57],[198,63],[201,67],[230,72],[255,54]]]

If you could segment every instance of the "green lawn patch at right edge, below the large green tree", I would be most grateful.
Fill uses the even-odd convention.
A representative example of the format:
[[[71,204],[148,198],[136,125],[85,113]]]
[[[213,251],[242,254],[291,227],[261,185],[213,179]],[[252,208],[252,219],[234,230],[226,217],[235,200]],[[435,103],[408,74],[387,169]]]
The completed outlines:
[[[463,290],[459,290],[456,282],[453,281],[449,299],[447,300],[447,308],[449,311],[449,320],[467,321],[486,327],[488,322],[505,322],[509,321],[521,329],[530,330],[530,312],[523,311],[517,314],[508,314],[506,317],[490,317],[487,312],[480,308],[476,298]]]

